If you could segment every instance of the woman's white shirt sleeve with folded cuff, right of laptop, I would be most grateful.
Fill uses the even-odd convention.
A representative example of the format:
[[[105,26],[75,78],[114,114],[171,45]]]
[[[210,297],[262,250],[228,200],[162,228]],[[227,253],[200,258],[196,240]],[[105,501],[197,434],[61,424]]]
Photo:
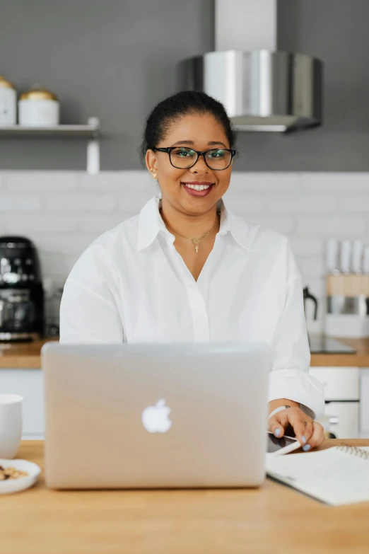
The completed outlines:
[[[303,306],[303,284],[293,253],[287,251],[286,302],[272,345],[269,402],[288,398],[312,417],[324,414],[324,391],[309,374],[310,349]]]

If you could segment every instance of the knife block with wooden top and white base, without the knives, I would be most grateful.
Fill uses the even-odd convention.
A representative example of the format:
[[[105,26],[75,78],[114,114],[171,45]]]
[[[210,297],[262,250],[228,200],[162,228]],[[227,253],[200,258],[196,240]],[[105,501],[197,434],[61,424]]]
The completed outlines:
[[[369,275],[327,275],[325,334],[369,337]]]

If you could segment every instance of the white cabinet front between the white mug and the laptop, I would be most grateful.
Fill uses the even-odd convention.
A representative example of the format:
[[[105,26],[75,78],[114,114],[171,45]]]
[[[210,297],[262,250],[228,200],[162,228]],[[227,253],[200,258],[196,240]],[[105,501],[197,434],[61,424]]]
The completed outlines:
[[[0,393],[23,396],[23,439],[43,439],[44,381],[41,369],[0,369]]]

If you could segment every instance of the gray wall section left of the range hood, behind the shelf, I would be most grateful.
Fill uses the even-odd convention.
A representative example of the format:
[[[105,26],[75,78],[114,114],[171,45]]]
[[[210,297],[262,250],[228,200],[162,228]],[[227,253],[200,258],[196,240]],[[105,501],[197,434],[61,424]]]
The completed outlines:
[[[175,64],[213,48],[212,0],[0,0],[0,74],[42,82],[62,123],[100,118],[101,168],[141,168],[145,117],[176,91]],[[0,139],[0,169],[83,169],[81,139]]]

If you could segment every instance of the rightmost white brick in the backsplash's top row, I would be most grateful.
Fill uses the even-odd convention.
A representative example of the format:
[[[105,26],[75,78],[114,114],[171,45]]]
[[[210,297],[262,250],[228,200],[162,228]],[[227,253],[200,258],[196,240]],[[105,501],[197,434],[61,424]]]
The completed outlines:
[[[369,173],[301,173],[304,192],[354,192],[369,190]]]

